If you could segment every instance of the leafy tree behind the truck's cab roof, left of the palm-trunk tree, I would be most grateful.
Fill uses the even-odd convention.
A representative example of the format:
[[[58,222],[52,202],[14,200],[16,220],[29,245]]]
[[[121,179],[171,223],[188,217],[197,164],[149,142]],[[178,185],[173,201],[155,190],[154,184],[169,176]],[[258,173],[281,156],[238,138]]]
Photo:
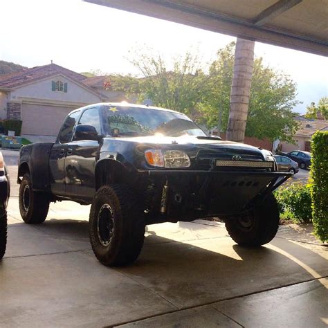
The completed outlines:
[[[188,52],[184,57],[174,58],[172,70],[167,69],[161,55],[143,53],[132,58],[131,63],[142,75],[138,86],[133,85],[136,80],[127,81],[126,78],[120,83],[124,84],[123,80],[129,82],[131,91],[138,91],[140,101],[149,98],[155,106],[197,116],[197,104],[203,97],[202,90],[206,84],[198,55]]]

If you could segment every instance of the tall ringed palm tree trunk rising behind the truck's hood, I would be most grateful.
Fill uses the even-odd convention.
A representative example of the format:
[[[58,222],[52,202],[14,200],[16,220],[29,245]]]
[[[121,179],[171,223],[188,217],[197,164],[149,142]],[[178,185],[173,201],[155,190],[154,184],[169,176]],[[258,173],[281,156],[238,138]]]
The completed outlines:
[[[254,41],[237,38],[233,85],[230,94],[230,112],[226,140],[244,143],[250,84],[254,64]]]

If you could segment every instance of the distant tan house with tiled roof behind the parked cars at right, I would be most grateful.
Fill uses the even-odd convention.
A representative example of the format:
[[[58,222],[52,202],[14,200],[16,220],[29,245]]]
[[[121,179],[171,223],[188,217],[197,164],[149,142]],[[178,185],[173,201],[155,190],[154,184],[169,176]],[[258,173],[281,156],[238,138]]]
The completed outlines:
[[[328,120],[300,120],[299,127],[293,136],[295,145],[292,143],[280,143],[282,152],[293,150],[311,151],[311,138],[316,131],[328,131]]]

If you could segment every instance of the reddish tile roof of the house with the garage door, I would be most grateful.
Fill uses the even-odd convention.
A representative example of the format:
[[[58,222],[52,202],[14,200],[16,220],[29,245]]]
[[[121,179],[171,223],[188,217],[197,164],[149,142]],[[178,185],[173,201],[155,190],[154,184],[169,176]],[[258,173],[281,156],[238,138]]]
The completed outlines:
[[[16,73],[0,75],[0,89],[11,89],[26,83],[35,82],[51,75],[63,74],[72,80],[83,82],[85,76],[57,64],[36,66],[31,69],[23,69]]]

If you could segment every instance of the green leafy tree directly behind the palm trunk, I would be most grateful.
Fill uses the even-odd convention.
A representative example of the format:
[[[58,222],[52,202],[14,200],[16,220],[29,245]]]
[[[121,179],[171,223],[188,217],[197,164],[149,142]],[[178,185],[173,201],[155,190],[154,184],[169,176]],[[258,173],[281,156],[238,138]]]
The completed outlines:
[[[228,125],[230,86],[233,75],[234,43],[217,53],[209,71],[210,86],[201,104],[203,122],[212,129],[217,126],[218,107],[221,102],[222,130]],[[225,67],[223,70],[222,68]],[[221,84],[217,81],[223,81]],[[248,105],[246,136],[270,140],[291,140],[298,128],[293,120],[296,84],[288,75],[265,66],[261,57],[255,58]]]

